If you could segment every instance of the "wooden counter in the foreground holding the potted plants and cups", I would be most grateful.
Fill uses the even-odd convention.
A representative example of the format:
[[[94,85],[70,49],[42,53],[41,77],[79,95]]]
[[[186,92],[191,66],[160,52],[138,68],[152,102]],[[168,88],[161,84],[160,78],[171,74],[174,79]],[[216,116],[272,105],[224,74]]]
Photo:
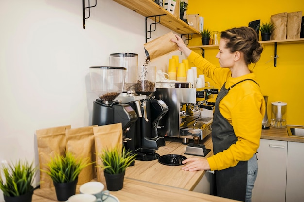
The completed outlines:
[[[102,182],[104,185],[105,182]],[[79,193],[77,185],[76,193]],[[120,202],[237,202],[226,198],[201,194],[194,191],[168,187],[138,180],[125,178],[123,188],[119,191],[110,191]],[[55,189],[36,189],[32,202],[57,202]],[[106,202],[106,201],[105,201]]]

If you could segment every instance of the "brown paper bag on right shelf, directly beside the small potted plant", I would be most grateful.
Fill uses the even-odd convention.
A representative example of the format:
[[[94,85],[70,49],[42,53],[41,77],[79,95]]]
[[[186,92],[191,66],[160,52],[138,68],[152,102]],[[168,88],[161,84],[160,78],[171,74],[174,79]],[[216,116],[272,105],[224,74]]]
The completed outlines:
[[[287,12],[272,15],[271,22],[274,24],[275,29],[272,32],[270,39],[286,39]]]

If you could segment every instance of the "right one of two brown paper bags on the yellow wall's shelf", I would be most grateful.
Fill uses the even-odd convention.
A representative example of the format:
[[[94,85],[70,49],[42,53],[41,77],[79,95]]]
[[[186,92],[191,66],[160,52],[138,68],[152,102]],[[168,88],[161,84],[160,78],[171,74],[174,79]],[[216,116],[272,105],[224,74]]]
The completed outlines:
[[[302,11],[287,14],[287,39],[300,38]]]

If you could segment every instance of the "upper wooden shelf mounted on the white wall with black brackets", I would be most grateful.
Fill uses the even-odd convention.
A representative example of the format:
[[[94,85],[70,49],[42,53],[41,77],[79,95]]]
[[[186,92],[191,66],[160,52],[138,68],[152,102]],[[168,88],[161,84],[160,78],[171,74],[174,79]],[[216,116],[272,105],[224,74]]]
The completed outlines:
[[[169,13],[163,7],[159,6],[152,0],[113,0],[142,16],[150,17],[156,15],[161,16],[160,24],[179,34],[199,34],[199,31],[190,27],[179,17]],[[154,17],[150,17],[154,20]]]

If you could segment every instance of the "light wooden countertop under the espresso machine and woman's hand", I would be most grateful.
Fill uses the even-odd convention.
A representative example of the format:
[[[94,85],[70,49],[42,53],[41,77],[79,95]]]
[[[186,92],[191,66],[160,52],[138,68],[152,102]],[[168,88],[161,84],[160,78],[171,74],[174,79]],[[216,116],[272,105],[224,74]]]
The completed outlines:
[[[166,137],[166,146],[159,147],[156,151],[160,156],[166,154],[178,154],[193,158],[193,155],[186,155],[186,146],[182,144],[181,138]],[[193,140],[189,140],[190,142]],[[213,155],[211,135],[208,135],[200,144],[204,144],[211,152],[206,157]],[[197,157],[197,156],[196,156]],[[200,157],[204,158],[204,157]],[[205,171],[188,172],[181,169],[182,166],[167,166],[160,164],[158,160],[153,161],[138,161],[135,160],[135,165],[127,168],[126,178],[146,181],[155,184],[167,185],[176,188],[182,188],[192,191],[198,182],[203,177]]]

